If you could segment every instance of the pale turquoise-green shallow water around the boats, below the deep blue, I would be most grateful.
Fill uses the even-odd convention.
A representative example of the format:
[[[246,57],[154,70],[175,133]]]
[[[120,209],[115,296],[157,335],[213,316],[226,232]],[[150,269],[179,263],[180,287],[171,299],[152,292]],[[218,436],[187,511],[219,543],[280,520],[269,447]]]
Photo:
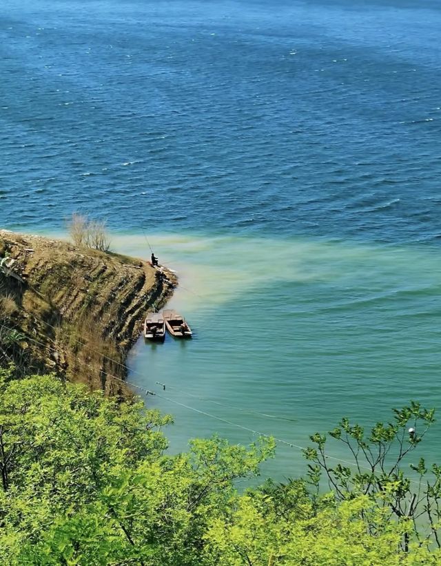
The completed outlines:
[[[129,380],[160,394],[148,397],[150,406],[174,415],[167,430],[172,451],[213,433],[252,442],[252,431],[305,446],[310,433],[334,427],[341,416],[362,424],[387,420],[391,407],[411,399],[440,407],[435,249],[232,236],[149,239],[180,278],[169,306],[185,315],[194,338],[139,340]],[[150,255],[142,235],[116,237],[113,245]],[[439,431],[435,425],[422,448],[431,461],[441,461]],[[348,458],[338,446],[329,451]],[[300,450],[283,443],[263,467],[277,478],[304,472]]]

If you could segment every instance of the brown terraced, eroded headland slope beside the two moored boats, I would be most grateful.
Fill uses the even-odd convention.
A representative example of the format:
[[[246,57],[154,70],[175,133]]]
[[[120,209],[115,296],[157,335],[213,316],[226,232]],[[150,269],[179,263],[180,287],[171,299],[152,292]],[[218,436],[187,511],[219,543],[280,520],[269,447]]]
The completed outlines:
[[[131,257],[0,230],[0,364],[126,396],[125,357],[176,278]],[[114,376],[114,377],[112,377]]]

